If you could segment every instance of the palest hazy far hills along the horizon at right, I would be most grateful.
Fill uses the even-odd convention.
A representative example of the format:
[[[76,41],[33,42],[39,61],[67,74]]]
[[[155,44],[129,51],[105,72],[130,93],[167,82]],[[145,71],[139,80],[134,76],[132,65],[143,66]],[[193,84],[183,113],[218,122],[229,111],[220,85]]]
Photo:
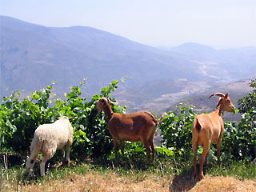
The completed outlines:
[[[198,63],[202,74],[229,82],[256,77],[256,46],[215,50],[198,43],[184,43],[167,49],[190,62]]]

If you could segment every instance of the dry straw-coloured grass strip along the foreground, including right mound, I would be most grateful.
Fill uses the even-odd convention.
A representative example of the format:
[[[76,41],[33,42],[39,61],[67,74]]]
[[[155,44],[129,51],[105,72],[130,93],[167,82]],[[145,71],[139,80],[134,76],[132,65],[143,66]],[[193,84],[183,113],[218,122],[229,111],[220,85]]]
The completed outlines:
[[[238,163],[239,165],[241,163]],[[168,165],[168,164],[165,164]],[[84,163],[74,167],[54,167],[48,170],[45,178],[41,178],[39,174],[34,174],[32,178],[27,177],[27,170],[13,169],[9,170],[9,178],[3,177],[0,180],[0,191],[36,191],[36,192],[77,192],[77,191],[254,191],[256,192],[256,174],[255,166],[238,166],[234,163],[232,166],[226,167],[227,170],[236,172],[236,176],[232,177],[230,171],[223,172],[219,168],[212,169],[212,176],[206,174],[206,178],[200,180],[192,179],[192,170],[183,167],[182,172],[171,170],[171,166],[161,166],[160,169],[152,166],[144,169],[130,168],[126,166],[98,166],[98,164]],[[245,170],[246,174],[241,170]],[[168,172],[169,171],[169,172]],[[39,172],[39,167],[34,170]],[[208,170],[207,172],[210,172]],[[218,174],[216,174],[218,173]],[[5,176],[7,172],[2,172]],[[223,177],[221,175],[229,175]],[[237,177],[237,178],[236,178]],[[251,178],[244,179],[243,178]],[[240,179],[240,180],[239,180]],[[241,180],[242,179],[242,180]]]

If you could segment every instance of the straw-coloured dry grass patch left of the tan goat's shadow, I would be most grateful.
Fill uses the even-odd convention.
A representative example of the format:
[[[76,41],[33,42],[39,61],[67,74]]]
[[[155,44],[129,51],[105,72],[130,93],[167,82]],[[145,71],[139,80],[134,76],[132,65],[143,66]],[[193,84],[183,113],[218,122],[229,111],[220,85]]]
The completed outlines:
[[[76,192],[76,191],[168,191],[170,182],[167,178],[146,176],[136,179],[134,177],[118,176],[118,174],[70,174],[65,179],[54,179],[41,183],[22,185],[22,191],[49,191],[49,192]],[[15,186],[8,186],[3,191],[15,191]],[[20,187],[19,187],[20,188]]]

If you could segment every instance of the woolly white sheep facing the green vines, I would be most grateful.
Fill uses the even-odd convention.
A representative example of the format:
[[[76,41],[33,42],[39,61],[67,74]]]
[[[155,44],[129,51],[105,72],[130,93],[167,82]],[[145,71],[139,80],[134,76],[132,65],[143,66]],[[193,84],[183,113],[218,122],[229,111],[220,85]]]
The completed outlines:
[[[54,156],[56,150],[62,150],[63,158],[65,157],[64,146],[66,146],[66,162],[70,166],[70,146],[73,142],[73,127],[69,119],[62,116],[54,123],[38,126],[34,131],[33,142],[30,146],[30,157],[26,160],[26,168],[30,169],[29,175],[33,172],[35,158],[37,158],[39,151],[43,154],[42,162],[40,163],[41,176],[45,175],[46,161]]]

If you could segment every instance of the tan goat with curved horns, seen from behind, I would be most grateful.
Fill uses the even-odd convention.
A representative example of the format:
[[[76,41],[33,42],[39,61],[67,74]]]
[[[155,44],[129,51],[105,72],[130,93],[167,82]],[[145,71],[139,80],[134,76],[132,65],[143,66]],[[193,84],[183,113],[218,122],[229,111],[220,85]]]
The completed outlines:
[[[203,163],[209,152],[210,144],[217,142],[218,164],[220,163],[220,146],[222,143],[222,134],[224,131],[224,122],[222,119],[223,111],[234,112],[234,105],[228,94],[212,94],[219,96],[216,109],[210,114],[199,114],[195,117],[192,126],[192,148],[194,152],[194,178],[197,176],[197,150],[198,145],[203,146],[202,156],[199,159],[200,172],[199,177],[204,178]]]

